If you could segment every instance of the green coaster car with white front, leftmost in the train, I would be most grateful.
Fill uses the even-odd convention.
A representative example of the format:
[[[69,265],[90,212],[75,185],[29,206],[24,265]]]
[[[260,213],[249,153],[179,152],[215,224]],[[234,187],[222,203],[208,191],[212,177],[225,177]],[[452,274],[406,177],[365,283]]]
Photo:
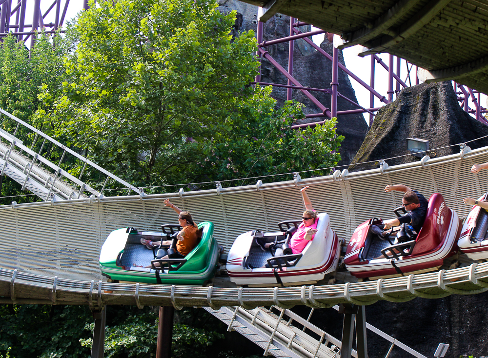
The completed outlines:
[[[202,238],[184,259],[161,259],[168,247],[158,245],[158,241],[175,238],[181,229],[179,225],[162,225],[162,233],[141,232],[130,227],[112,231],[100,253],[102,275],[118,281],[204,285],[215,275],[219,245],[213,238],[213,223],[205,221],[198,228]],[[155,248],[147,249],[141,239],[153,241]],[[159,262],[162,267],[145,268],[151,261]]]

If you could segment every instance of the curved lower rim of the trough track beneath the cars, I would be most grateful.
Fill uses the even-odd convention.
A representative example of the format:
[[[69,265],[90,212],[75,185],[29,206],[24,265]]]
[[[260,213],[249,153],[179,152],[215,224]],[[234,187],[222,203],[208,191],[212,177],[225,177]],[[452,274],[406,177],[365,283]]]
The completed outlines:
[[[306,305],[327,308],[340,303],[372,304],[380,299],[405,302],[416,297],[442,298],[451,294],[474,295],[488,290],[488,263],[438,272],[380,278],[345,284],[229,288],[109,283],[36,276],[18,270],[0,270],[0,303],[75,304],[188,307],[257,306],[291,308]]]

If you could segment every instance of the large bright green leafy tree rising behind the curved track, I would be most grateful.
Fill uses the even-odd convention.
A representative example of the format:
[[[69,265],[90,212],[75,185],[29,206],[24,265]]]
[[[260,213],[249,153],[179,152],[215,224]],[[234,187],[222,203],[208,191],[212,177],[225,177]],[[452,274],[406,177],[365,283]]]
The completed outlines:
[[[233,39],[234,21],[207,0],[104,1],[83,12],[55,101],[59,133],[137,186],[334,165],[333,121],[291,131],[298,104],[276,110],[269,89],[249,86],[256,40],[252,31]]]

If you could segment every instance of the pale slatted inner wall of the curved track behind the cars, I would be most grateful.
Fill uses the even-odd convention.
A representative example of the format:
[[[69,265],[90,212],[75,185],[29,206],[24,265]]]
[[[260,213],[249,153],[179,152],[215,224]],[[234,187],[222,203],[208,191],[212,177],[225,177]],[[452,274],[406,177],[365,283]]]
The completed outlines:
[[[327,212],[339,237],[350,238],[357,225],[371,217],[392,218],[401,204],[402,193],[385,193],[388,184],[406,184],[426,198],[443,194],[447,205],[461,218],[470,207],[463,198],[478,198],[488,191],[488,171],[478,175],[469,169],[488,161],[488,147],[473,150],[464,159],[453,155],[386,169],[332,176],[143,197],[112,197],[91,201],[66,200],[0,206],[0,268],[19,269],[42,276],[66,279],[101,278],[98,257],[103,241],[115,229],[132,226],[160,231],[163,223],[177,223],[175,212],[164,207],[171,201],[188,210],[197,222],[212,221],[215,237],[227,252],[241,233],[260,229],[276,231],[276,223],[299,219],[304,209],[299,187],[314,208]]]

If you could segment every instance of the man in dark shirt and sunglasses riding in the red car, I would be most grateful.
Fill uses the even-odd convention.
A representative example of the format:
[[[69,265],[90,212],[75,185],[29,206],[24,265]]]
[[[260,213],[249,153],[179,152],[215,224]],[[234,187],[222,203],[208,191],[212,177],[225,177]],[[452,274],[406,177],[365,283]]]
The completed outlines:
[[[406,215],[383,221],[383,227],[371,225],[371,231],[375,234],[378,234],[382,238],[386,238],[390,233],[388,232],[393,226],[399,226],[401,224],[410,224],[413,226],[413,229],[418,233],[424,224],[427,215],[427,199],[424,198],[422,194],[420,194],[416,190],[410,189],[408,186],[403,184],[396,184],[396,185],[386,185],[385,192],[391,191],[401,191],[404,192],[404,196],[402,198],[402,206],[408,211]]]

